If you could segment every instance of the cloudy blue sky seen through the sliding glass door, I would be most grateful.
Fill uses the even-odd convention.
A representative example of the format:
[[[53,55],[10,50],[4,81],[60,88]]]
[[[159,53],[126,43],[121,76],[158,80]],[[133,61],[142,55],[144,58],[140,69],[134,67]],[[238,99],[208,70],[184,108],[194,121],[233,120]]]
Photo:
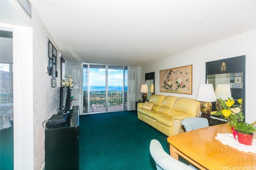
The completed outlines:
[[[89,75],[90,86],[106,86],[106,69],[90,68]],[[85,77],[86,72],[84,72],[84,86],[86,86]],[[123,70],[108,69],[108,86],[123,86]]]

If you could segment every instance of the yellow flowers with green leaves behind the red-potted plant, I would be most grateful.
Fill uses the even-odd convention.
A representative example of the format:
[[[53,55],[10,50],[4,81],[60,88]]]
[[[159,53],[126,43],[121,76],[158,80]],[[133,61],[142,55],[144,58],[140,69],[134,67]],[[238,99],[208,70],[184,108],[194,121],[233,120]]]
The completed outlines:
[[[244,115],[242,112],[242,99],[238,99],[238,103],[240,105],[234,105],[235,101],[233,98],[228,99],[227,102],[223,101],[221,98],[219,99],[223,110],[217,111],[214,115],[224,116],[224,120],[228,123],[238,123],[244,120]]]

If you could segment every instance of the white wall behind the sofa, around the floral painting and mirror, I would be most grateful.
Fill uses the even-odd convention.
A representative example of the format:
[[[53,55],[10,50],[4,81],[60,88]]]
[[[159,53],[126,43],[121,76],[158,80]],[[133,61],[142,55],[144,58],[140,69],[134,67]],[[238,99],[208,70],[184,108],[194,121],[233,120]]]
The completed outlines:
[[[171,47],[170,47],[171,48]],[[199,84],[205,84],[205,64],[208,61],[246,55],[246,122],[256,120],[256,30],[180,53],[141,67],[141,84],[145,73],[155,72],[155,94],[196,98]],[[192,95],[160,92],[159,71],[192,64]],[[239,64],[239,63],[238,63]],[[235,67],[235,66],[234,66]]]

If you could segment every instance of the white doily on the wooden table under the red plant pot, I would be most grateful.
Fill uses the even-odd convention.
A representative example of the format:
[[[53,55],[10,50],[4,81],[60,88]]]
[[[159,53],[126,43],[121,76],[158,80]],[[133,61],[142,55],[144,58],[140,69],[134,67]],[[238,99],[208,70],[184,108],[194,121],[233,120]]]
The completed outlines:
[[[218,139],[224,145],[228,145],[240,151],[256,153],[256,139],[252,139],[252,145],[239,143],[234,139],[233,134],[230,133],[218,133],[215,139]]]

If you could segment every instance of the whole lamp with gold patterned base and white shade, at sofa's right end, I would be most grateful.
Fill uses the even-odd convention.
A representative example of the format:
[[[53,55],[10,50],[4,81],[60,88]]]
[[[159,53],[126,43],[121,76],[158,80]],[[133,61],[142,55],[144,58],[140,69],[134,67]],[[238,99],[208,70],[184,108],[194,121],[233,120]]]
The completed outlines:
[[[212,103],[216,102],[216,96],[212,84],[200,84],[196,100],[201,102],[200,111],[201,117],[210,120],[210,113],[212,111]]]

